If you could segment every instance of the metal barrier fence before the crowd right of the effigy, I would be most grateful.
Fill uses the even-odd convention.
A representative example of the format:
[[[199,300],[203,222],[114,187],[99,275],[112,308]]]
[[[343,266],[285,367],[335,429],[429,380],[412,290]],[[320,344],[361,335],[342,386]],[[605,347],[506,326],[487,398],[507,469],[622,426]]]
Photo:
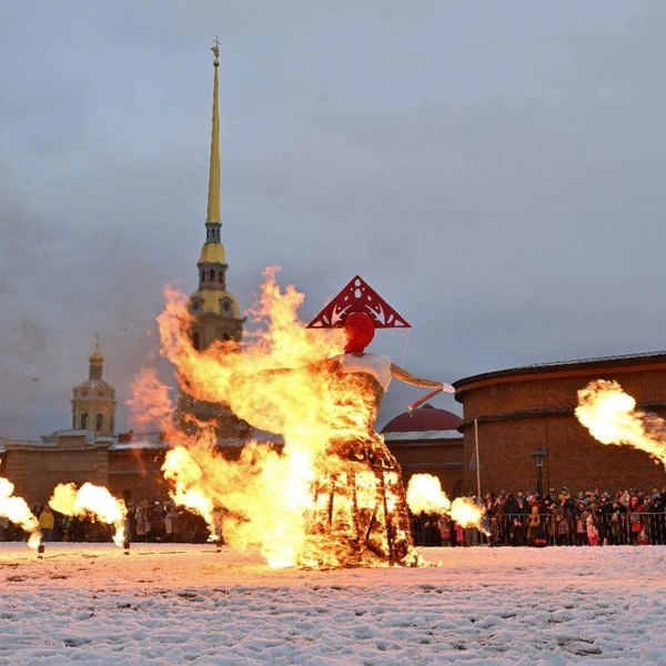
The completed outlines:
[[[412,532],[417,546],[626,546],[665,545],[666,514],[603,514],[593,517],[553,514],[485,516],[483,529],[460,529],[436,515],[414,516]],[[596,533],[596,535],[595,535]],[[538,542],[538,543],[535,543]]]

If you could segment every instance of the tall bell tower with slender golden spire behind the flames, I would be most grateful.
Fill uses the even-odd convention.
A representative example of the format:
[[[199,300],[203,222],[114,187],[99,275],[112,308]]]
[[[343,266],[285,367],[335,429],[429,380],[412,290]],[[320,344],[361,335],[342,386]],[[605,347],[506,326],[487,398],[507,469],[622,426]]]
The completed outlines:
[[[226,253],[222,244],[222,215],[220,212],[220,103],[219,80],[220,42],[215,39],[213,52],[213,128],[209,168],[208,214],[205,241],[196,262],[199,287],[190,296],[190,313],[194,316],[191,327],[192,343],[205,350],[214,342],[235,342],[240,351],[243,323],[235,296],[226,289]],[[230,352],[234,353],[234,352]],[[221,436],[236,436],[243,428],[241,422],[224,405],[195,400],[181,393],[182,413],[192,414],[203,422],[214,421]]]

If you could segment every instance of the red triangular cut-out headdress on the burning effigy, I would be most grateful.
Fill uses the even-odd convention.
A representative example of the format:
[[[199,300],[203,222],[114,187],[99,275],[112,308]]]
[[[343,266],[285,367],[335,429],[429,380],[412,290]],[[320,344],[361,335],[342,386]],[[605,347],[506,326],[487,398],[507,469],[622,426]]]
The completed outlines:
[[[335,329],[352,312],[365,312],[375,329],[411,329],[377,292],[356,275],[309,324],[307,329]]]

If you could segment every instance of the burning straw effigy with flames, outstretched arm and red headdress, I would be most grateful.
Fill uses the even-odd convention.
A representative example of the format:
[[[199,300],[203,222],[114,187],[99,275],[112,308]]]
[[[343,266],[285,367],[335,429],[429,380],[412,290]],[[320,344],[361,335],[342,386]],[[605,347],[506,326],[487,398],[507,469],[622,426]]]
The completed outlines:
[[[151,373],[137,381],[131,406],[163,415],[172,497],[198,511],[212,535],[221,528],[230,544],[260,545],[275,567],[416,565],[402,473],[374,424],[392,377],[453,387],[365,351],[376,329],[408,324],[361,278],[307,326],[296,313],[303,299],[269,271],[252,311],[262,326],[242,350],[232,341],[194,349],[193,316],[176,292],[168,290],[159,316],[161,353],[181,387],[282,435],[281,452],[249,442],[240,460],[223,458],[212,431],[178,430]]]

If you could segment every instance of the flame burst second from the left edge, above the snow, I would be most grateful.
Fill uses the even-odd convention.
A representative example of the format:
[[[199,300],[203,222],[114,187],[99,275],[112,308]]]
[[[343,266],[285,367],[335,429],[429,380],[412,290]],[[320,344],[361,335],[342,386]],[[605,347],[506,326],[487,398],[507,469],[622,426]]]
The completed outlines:
[[[115,534],[113,543],[121,547],[124,541],[124,528],[128,509],[122,500],[92,483],[84,483],[79,490],[73,483],[61,483],[53,488],[49,505],[65,516],[85,516],[113,525]]]

